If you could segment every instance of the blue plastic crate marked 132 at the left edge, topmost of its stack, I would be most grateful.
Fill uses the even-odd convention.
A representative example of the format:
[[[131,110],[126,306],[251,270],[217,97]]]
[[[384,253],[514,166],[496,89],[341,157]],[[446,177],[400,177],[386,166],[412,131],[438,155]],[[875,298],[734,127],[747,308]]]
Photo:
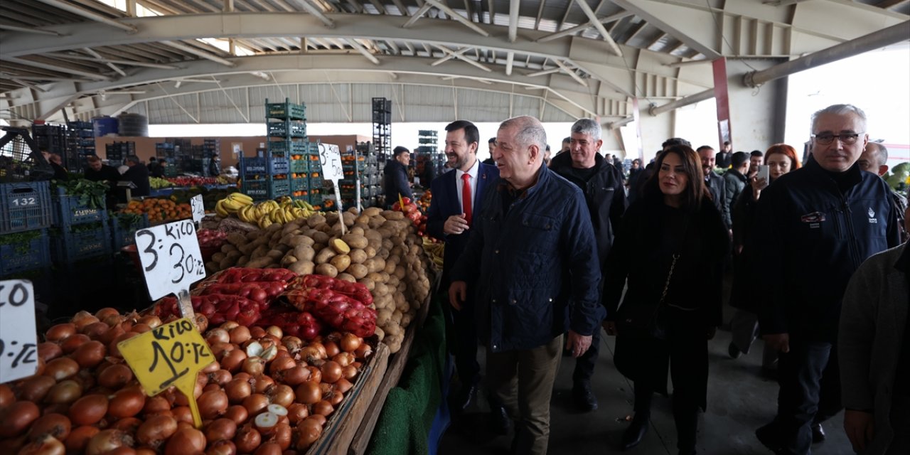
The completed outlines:
[[[49,182],[0,184],[0,233],[51,225]]]

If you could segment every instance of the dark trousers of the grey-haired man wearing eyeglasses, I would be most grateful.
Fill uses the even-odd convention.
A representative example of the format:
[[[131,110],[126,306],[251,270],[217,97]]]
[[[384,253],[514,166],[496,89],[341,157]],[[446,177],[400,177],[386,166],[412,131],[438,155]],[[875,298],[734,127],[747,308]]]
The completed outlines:
[[[834,344],[807,341],[791,334],[790,352],[778,361],[776,430],[784,453],[812,453],[812,424],[841,410],[840,375]]]

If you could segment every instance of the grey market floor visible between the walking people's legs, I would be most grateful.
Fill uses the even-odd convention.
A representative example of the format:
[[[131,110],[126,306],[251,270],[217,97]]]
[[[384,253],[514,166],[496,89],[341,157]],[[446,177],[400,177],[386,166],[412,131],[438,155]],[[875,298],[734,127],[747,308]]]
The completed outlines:
[[[730,308],[725,308],[730,309]],[[732,311],[724,314],[731,315]],[[551,400],[551,455],[561,454],[675,454],[676,430],[673,425],[669,398],[655,396],[652,406],[651,430],[641,445],[628,452],[620,449],[622,431],[628,426],[626,416],[632,414],[632,384],[613,366],[613,338],[603,337],[604,343],[592,388],[600,409],[580,413],[571,403],[571,370],[575,362],[562,358]],[[729,331],[718,331],[709,343],[710,379],[708,410],[699,417],[698,451],[709,455],[764,455],[754,430],[773,418],[776,410],[777,382],[763,376],[762,347],[756,342],[749,355],[740,359],[727,356]],[[605,348],[605,349],[604,349]],[[482,351],[482,349],[481,349]],[[440,455],[504,455],[509,453],[508,436],[490,434],[489,409],[479,393],[479,403],[467,411],[467,419],[455,420],[440,439]],[[824,423],[827,440],[813,446],[815,455],[854,453],[844,430],[843,412]]]

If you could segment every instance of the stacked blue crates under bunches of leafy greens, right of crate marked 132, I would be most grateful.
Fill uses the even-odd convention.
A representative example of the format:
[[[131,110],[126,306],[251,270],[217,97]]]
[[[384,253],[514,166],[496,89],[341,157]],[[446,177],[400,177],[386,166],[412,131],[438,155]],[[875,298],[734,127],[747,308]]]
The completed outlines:
[[[109,255],[111,235],[105,207],[88,207],[62,187],[52,190],[51,195],[51,259],[68,266]]]

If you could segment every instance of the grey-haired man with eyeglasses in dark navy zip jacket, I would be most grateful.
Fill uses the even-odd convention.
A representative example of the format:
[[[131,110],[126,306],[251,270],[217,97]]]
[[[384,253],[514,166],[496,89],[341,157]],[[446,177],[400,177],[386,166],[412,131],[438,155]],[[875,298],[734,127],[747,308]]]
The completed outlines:
[[[887,184],[856,164],[865,122],[856,106],[816,112],[814,160],[759,201],[758,261],[769,283],[759,323],[781,356],[777,416],[755,435],[775,453],[809,454],[824,440],[821,423],[842,408],[836,341],[847,282],[866,258],[900,241]],[[854,411],[869,410],[848,409],[844,426]]]

